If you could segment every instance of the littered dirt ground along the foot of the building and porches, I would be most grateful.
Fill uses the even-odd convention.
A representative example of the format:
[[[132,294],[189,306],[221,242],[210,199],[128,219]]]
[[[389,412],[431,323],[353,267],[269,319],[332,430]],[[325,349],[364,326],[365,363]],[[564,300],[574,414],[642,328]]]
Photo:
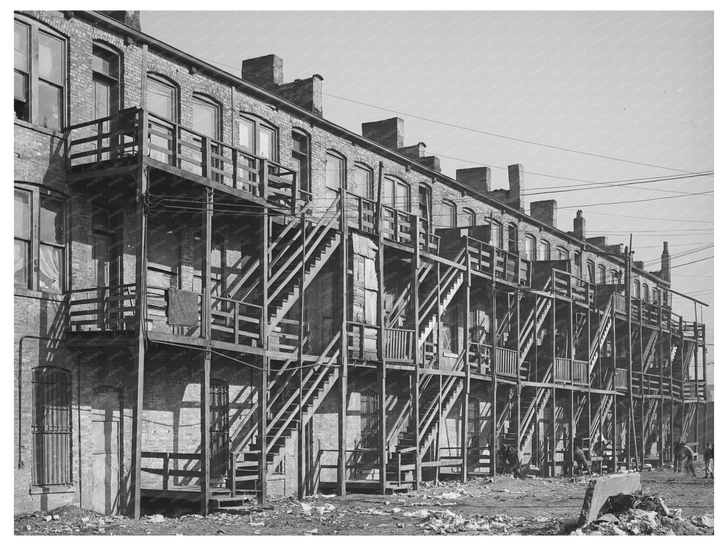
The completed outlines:
[[[681,508],[683,518],[712,516],[713,480],[701,479],[698,472],[697,478],[671,470],[643,472],[643,491],[662,496],[670,510]],[[132,520],[68,506],[16,516],[15,534],[422,535],[443,532],[428,518],[431,521],[432,512],[445,510],[466,520],[473,515],[488,518],[480,519],[489,521],[488,531],[472,529],[461,534],[563,534],[559,524],[578,517],[586,486],[587,480],[573,483],[569,478],[496,477],[492,482],[475,478],[465,485],[445,482],[408,494],[318,495],[307,497],[303,504],[272,499],[264,506],[250,504],[244,510],[213,512],[207,518],[194,514],[194,504],[170,504],[158,510],[165,518],[161,522],[152,521],[149,511],[140,520]],[[713,529],[703,531],[713,533]]]

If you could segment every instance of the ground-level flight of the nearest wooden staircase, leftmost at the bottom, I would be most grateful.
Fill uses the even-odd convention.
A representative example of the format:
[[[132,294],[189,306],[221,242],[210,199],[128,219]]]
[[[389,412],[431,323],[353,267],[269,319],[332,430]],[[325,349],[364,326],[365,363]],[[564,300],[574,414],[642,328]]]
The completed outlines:
[[[298,428],[308,423],[339,378],[339,354],[341,346],[338,332],[318,357],[316,362],[298,370],[297,359],[288,359],[277,370],[268,373],[267,426],[265,458],[261,451],[258,429],[253,430],[252,442],[242,453],[242,461],[236,461],[236,486],[241,481],[257,480],[261,461],[265,459],[269,469],[276,467],[285,456],[288,440]],[[299,380],[299,373],[303,378]],[[299,387],[299,381],[302,388]],[[299,397],[301,397],[299,403]]]

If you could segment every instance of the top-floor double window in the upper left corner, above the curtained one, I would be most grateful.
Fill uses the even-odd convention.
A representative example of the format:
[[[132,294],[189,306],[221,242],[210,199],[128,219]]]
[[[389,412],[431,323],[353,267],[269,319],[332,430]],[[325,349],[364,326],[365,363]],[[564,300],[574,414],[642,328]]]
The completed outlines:
[[[14,44],[15,117],[60,130],[66,94],[65,40],[35,23],[16,20]]]

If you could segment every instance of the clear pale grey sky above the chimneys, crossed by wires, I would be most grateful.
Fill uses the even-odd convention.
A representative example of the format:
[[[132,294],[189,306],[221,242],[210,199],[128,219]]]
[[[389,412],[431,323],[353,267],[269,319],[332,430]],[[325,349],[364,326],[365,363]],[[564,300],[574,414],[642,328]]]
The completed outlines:
[[[237,76],[269,53],[285,81],[321,74],[324,117],[361,133],[399,115],[405,145],[427,144],[449,176],[492,165],[493,187],[507,187],[505,167],[522,163],[527,202],[557,200],[565,231],[578,207],[589,236],[633,233],[648,270],[662,241],[673,266],[713,256],[713,195],[685,195],[712,192],[712,176],[583,185],[713,169],[712,12],[142,12],[141,26]],[[673,288],[711,305],[713,343],[713,260],[675,268]],[[673,306],[695,316],[692,302]]]

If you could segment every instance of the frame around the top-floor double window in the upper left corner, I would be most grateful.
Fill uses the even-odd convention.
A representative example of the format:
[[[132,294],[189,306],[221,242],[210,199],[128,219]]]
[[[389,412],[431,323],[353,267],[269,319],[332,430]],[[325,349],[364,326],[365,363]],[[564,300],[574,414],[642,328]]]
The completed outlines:
[[[47,130],[54,130],[54,131],[62,131],[64,127],[66,127],[67,120],[68,120],[68,69],[67,69],[67,63],[68,63],[68,38],[66,36],[63,36],[63,34],[60,34],[58,31],[55,31],[55,29],[50,28],[49,26],[46,26],[42,23],[39,23],[35,20],[32,20],[28,17],[20,17],[16,15],[13,18],[14,26],[13,26],[13,36],[15,36],[15,23],[23,25],[28,28],[28,42],[27,43],[27,88],[25,90],[25,93],[27,94],[28,101],[26,103],[26,109],[28,111],[28,119],[25,120],[22,117],[15,117],[15,121],[22,121],[26,123],[31,123],[31,125],[36,125],[38,127],[47,129]],[[40,34],[46,34],[47,36],[50,36],[52,39],[56,39],[60,42],[60,84],[58,82],[52,82],[49,79],[44,79],[40,77],[39,74],[39,35]],[[15,39],[15,37],[14,37]],[[13,64],[13,73],[15,74],[15,64]],[[39,119],[40,116],[40,96],[39,96],[39,87],[40,82],[44,82],[46,85],[50,85],[52,87],[60,87],[60,105],[58,110],[58,127],[52,127],[49,125],[44,125],[41,123],[41,120]],[[14,101],[15,101],[15,93],[14,93]],[[15,105],[13,107],[15,111]]]

